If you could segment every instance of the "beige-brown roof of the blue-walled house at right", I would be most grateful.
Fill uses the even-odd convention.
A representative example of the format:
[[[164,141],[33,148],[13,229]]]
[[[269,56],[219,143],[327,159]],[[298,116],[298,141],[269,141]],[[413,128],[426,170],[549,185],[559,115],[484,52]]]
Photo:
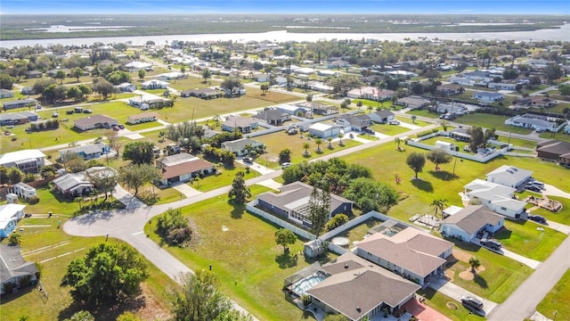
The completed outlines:
[[[487,224],[495,226],[500,221],[501,216],[487,210],[484,205],[468,205],[452,216],[445,218],[443,224],[458,226],[469,235],[473,235]]]

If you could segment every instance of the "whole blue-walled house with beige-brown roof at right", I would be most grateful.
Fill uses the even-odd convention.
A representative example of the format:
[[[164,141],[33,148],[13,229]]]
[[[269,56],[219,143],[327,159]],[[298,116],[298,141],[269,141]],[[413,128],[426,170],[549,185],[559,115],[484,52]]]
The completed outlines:
[[[483,205],[468,205],[442,222],[442,234],[471,242],[477,234],[496,233],[504,225],[505,218],[493,213]]]

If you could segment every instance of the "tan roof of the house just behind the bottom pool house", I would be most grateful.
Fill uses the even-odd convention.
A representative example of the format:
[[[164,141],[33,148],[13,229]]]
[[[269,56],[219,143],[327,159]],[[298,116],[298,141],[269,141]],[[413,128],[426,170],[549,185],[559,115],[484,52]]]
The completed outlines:
[[[357,247],[425,277],[445,263],[439,255],[451,249],[453,243],[406,227],[394,236],[375,233],[358,243]]]

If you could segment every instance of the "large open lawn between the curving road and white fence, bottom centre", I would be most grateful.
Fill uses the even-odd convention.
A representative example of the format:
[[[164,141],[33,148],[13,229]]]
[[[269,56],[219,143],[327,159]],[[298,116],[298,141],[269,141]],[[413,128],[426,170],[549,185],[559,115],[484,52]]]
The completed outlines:
[[[252,186],[254,195],[268,190]],[[276,226],[227,201],[222,195],[182,209],[198,226],[199,244],[194,248],[162,246],[194,270],[211,264],[221,289],[260,320],[306,319],[281,292],[285,277],[312,263],[297,256],[304,241],[297,240],[289,246],[291,254],[283,255],[283,248],[274,241]],[[145,226],[145,233],[161,243],[151,226]]]

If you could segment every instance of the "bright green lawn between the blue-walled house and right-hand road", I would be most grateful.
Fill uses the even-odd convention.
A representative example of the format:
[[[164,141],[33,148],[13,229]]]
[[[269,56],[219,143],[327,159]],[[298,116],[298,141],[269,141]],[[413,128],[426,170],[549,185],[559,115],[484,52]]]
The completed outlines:
[[[505,228],[495,238],[509,251],[543,261],[566,239],[566,235],[547,226],[542,226],[544,231],[537,230],[537,227],[539,225],[532,221],[505,220]]]

